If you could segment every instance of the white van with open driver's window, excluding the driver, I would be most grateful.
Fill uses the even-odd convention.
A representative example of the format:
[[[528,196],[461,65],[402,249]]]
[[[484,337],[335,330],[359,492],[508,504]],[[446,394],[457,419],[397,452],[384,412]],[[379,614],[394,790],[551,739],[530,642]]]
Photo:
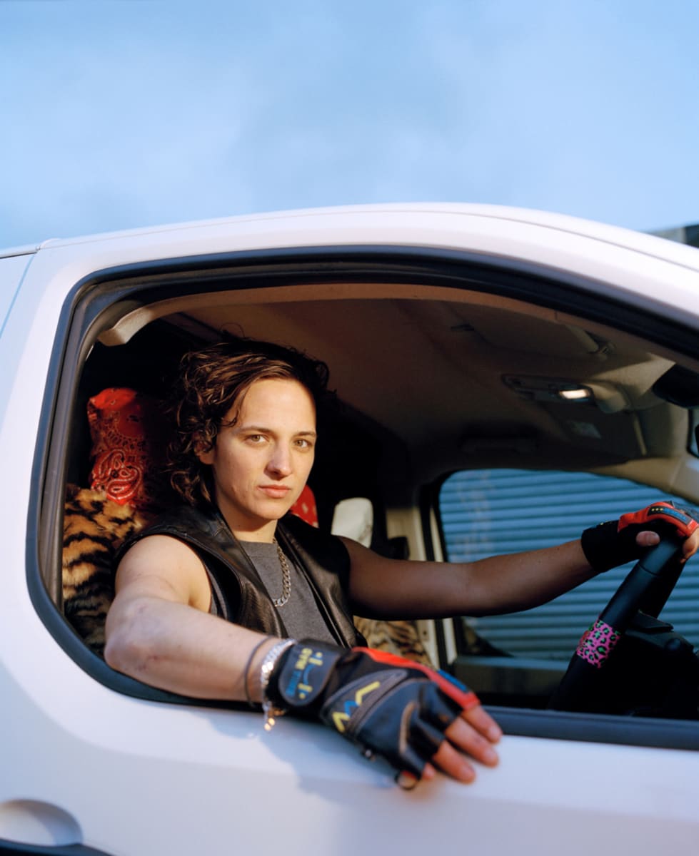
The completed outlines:
[[[565,520],[577,537],[606,519],[619,485],[699,503],[696,249],[481,205],[284,212],[9,251],[0,323],[0,853],[699,853],[692,562],[622,589],[629,627],[591,686],[560,682],[620,572],[506,633],[460,615],[371,628],[505,730],[498,768],[408,793],[320,725],[266,733],[242,705],[106,665],[90,633],[136,523],[122,504],[115,532],[95,496],[88,422],[105,389],[159,401],[184,351],[242,333],[330,367],[344,407],[309,484],[328,529],[363,499],[374,549],[517,550],[503,529],[557,543]],[[526,484],[497,505],[507,473]]]

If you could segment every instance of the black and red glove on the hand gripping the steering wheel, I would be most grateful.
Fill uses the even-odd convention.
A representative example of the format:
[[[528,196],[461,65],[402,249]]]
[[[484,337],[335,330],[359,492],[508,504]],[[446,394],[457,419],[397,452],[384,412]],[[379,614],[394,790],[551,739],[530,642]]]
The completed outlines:
[[[654,502],[633,514],[622,514],[586,529],[580,538],[583,553],[595,571],[608,571],[634,559],[640,559],[647,547],[636,544],[639,532],[657,532],[689,538],[699,526],[699,514],[694,508],[676,508],[672,502]]]

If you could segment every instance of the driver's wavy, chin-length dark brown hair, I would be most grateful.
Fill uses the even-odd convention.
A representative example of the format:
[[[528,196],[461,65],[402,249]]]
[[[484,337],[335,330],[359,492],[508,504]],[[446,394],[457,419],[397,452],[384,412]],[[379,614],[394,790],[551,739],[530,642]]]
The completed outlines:
[[[182,357],[176,378],[170,442],[170,484],[189,505],[212,505],[210,467],[197,452],[212,449],[222,426],[235,425],[248,389],[258,380],[296,380],[313,396],[316,411],[329,397],[328,368],[295,348],[235,339]],[[232,419],[226,415],[237,407]]]

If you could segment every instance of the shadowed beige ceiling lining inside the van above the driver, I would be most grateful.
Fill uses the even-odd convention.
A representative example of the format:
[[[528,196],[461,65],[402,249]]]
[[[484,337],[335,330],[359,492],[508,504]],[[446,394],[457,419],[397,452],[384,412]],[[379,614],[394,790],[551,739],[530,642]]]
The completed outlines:
[[[654,392],[672,359],[630,336],[484,294],[265,295],[264,302],[259,293],[259,302],[242,294],[218,293],[210,304],[194,295],[191,306],[181,300],[177,312],[140,329],[137,312],[134,335],[120,338],[115,325],[101,337],[109,344],[98,344],[87,361],[81,404],[98,388],[132,382],[157,395],[183,350],[223,332],[290,344],[325,360],[346,406],[344,424],[363,440],[373,435],[389,490],[401,480],[397,467],[409,467],[405,478],[415,485],[475,466],[611,472],[628,461],[684,455],[686,410]],[[565,398],[565,388],[585,388],[588,397]]]

